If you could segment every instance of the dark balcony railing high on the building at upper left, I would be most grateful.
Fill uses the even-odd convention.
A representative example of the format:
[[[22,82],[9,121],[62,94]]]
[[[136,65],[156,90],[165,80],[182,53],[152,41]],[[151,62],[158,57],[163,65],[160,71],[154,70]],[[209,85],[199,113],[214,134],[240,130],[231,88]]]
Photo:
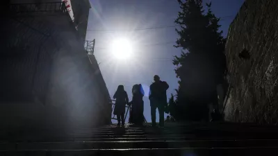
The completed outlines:
[[[14,13],[27,12],[67,12],[67,7],[63,2],[50,3],[16,3],[10,4],[10,11]]]

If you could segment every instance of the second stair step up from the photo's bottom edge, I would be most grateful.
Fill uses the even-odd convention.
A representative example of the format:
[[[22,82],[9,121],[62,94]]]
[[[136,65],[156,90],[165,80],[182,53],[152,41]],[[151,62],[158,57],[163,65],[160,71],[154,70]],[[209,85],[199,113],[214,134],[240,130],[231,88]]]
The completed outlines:
[[[0,144],[0,150],[87,150],[149,148],[262,148],[277,147],[277,140],[243,141],[74,141]]]

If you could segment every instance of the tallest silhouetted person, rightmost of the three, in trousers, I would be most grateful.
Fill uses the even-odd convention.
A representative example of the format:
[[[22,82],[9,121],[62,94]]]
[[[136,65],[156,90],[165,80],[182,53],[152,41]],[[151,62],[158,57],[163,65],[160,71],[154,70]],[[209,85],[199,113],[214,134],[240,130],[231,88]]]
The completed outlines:
[[[159,112],[159,125],[164,126],[164,107],[167,105],[166,90],[169,85],[154,76],[154,83],[149,86],[149,101],[151,103],[152,126],[156,125],[156,108]]]

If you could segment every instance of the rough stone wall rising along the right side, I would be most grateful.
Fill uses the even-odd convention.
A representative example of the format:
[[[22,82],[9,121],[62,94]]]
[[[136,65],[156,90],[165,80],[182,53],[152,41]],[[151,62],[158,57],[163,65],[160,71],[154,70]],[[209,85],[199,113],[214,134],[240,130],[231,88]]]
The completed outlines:
[[[246,0],[229,28],[228,121],[278,123],[277,14],[278,1]]]

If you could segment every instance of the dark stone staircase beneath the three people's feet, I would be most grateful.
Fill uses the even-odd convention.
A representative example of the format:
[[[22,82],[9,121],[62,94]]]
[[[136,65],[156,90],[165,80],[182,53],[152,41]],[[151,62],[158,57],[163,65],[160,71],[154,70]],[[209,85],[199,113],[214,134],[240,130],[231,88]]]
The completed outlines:
[[[165,128],[107,125],[67,137],[2,141],[0,155],[268,155],[278,152],[277,128],[168,123]]]

